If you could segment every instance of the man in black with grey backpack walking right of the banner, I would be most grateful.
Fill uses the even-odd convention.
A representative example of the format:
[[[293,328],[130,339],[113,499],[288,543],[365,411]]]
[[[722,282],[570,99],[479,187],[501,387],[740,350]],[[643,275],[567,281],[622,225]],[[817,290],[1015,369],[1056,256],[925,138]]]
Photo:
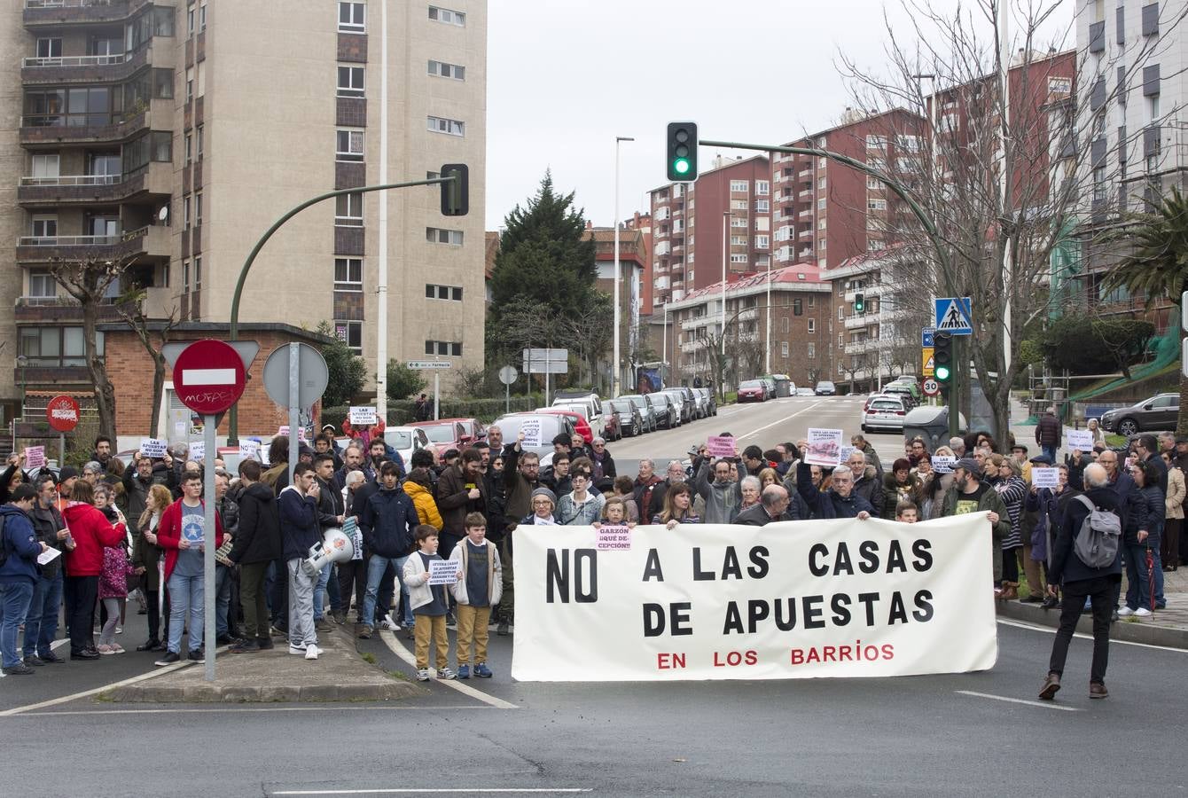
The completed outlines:
[[[1106,469],[1093,463],[1085,469],[1085,499],[1095,509],[1120,515],[1118,495],[1110,489],[1110,476]],[[1053,545],[1051,568],[1048,571],[1048,593],[1056,595],[1056,585],[1061,585],[1063,603],[1061,604],[1060,629],[1051,646],[1051,659],[1048,663],[1048,678],[1040,689],[1040,697],[1051,701],[1060,690],[1060,679],[1064,672],[1064,660],[1068,657],[1068,644],[1073,640],[1076,621],[1081,618],[1086,597],[1093,607],[1093,664],[1089,669],[1089,698],[1105,698],[1106,664],[1110,659],[1110,615],[1116,585],[1121,581],[1121,547],[1114,555],[1113,562],[1105,568],[1091,568],[1081,562],[1073,551],[1076,536],[1089,515],[1085,501],[1074,499],[1068,504],[1063,524]],[[1120,522],[1119,518],[1119,522]]]

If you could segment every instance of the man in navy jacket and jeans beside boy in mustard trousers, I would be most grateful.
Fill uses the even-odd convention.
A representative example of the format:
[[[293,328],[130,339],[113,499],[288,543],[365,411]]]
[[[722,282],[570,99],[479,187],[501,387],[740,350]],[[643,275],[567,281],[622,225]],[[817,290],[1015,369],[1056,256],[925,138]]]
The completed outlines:
[[[413,530],[421,524],[412,498],[400,487],[400,467],[384,461],[379,469],[380,488],[364,506],[359,530],[364,533],[364,549],[371,552],[367,560],[367,593],[364,597],[364,628],[360,638],[371,638],[375,623],[375,596],[384,571],[391,564],[400,580],[400,595],[405,606],[409,590],[404,587],[404,562],[413,547]],[[387,608],[384,608],[387,612]]]

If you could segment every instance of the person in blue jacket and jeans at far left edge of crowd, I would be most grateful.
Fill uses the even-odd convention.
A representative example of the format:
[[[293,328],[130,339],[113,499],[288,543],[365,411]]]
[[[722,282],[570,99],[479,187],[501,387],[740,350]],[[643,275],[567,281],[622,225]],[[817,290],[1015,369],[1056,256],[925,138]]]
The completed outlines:
[[[5,676],[33,672],[17,653],[17,634],[25,622],[33,585],[40,576],[37,557],[46,546],[37,539],[29,513],[33,509],[37,489],[18,484],[0,507],[0,665]]]

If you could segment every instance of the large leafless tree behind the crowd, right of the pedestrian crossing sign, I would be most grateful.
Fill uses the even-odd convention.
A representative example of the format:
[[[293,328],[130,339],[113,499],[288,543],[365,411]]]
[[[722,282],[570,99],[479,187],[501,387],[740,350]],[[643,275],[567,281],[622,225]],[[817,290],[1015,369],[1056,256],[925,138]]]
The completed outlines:
[[[915,297],[918,310],[933,297],[972,298],[974,335],[961,346],[994,411],[994,433],[1005,437],[1011,385],[1024,368],[1024,328],[1049,310],[1042,289],[1050,281],[1053,252],[1078,218],[1117,202],[1104,190],[1118,184],[1118,173],[1106,173],[1089,144],[1102,135],[1106,109],[1119,96],[1118,61],[1057,52],[1067,31],[1041,40],[1061,0],[1010,4],[1009,42],[996,25],[1004,0],[956,7],[902,2],[914,28],[905,40],[886,26],[887,69],[867,70],[852,53],[841,53],[840,68],[860,112],[906,108],[930,122],[923,141],[915,137],[918,128],[896,137],[908,144],[911,135],[911,144],[886,160],[889,176],[909,186],[935,226],[940,252],[901,209],[890,221],[901,243],[895,256],[909,266],[901,272],[904,296]],[[1161,32],[1184,13],[1161,20]],[[1158,46],[1155,39],[1164,37],[1136,38],[1125,53],[1130,87]],[[1074,102],[1074,74],[1080,102]],[[1000,75],[1007,75],[1007,91]],[[1129,141],[1139,137],[1142,131],[1132,131]]]

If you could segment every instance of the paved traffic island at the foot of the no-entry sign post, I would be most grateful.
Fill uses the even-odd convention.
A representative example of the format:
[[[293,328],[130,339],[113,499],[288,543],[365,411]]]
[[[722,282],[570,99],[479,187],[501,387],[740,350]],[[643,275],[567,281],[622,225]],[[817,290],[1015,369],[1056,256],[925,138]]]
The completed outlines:
[[[417,685],[364,661],[350,627],[318,633],[322,654],[316,661],[289,653],[289,644],[252,654],[220,651],[215,682],[206,665],[190,665],[128,684],[102,697],[115,702],[283,702],[391,701],[424,695]]]

